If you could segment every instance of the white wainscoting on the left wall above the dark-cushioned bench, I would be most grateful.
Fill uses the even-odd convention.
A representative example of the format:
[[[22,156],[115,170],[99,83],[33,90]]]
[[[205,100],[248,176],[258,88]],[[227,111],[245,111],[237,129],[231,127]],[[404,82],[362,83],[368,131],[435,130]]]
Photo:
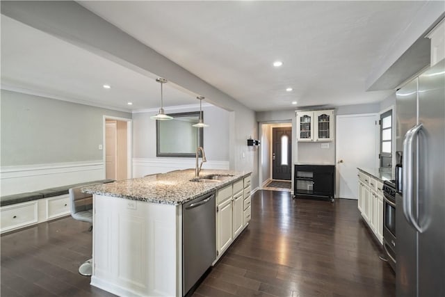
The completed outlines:
[[[1,195],[13,195],[104,179],[105,166],[102,160],[3,166],[0,175]]]

